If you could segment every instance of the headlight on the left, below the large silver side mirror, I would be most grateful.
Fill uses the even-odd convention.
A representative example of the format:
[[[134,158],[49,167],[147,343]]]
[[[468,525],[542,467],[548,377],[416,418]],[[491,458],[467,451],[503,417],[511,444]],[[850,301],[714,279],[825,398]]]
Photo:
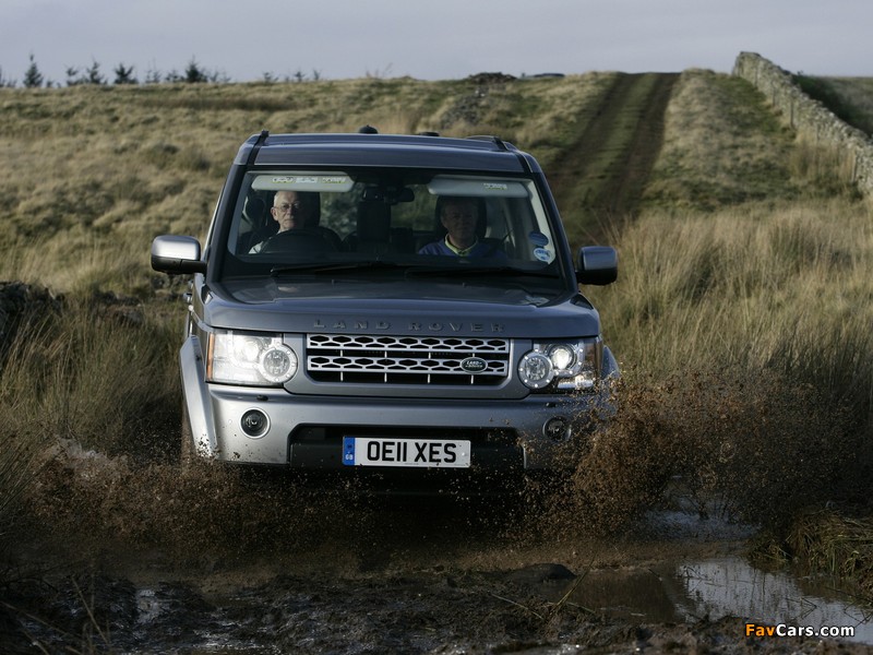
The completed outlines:
[[[297,372],[297,354],[275,335],[216,331],[210,334],[206,380],[279,386]]]

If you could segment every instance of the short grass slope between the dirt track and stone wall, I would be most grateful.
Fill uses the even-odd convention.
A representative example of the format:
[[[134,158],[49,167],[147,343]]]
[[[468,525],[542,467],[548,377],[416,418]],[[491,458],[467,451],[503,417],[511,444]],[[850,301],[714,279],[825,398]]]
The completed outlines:
[[[742,80],[686,71],[667,110],[648,206],[713,211],[754,201],[852,194],[851,170],[826,146],[802,144]]]

